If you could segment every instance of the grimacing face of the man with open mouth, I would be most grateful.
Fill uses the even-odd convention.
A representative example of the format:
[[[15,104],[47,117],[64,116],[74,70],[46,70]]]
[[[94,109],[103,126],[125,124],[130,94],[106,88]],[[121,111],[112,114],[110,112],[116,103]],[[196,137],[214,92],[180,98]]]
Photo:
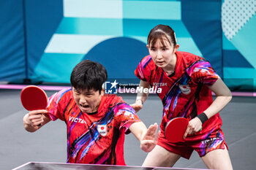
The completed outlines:
[[[75,88],[72,88],[72,91],[75,103],[78,104],[78,107],[82,112],[97,112],[99,103],[104,94],[103,91],[99,93],[99,90],[78,90]]]

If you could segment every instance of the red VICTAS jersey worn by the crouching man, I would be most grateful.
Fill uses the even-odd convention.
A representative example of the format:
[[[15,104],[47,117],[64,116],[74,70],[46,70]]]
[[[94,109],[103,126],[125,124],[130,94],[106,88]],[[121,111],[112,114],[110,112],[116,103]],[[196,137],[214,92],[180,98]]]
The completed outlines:
[[[102,96],[98,112],[80,112],[72,89],[49,98],[48,117],[67,124],[67,163],[125,165],[124,134],[140,122],[135,111],[116,95]]]

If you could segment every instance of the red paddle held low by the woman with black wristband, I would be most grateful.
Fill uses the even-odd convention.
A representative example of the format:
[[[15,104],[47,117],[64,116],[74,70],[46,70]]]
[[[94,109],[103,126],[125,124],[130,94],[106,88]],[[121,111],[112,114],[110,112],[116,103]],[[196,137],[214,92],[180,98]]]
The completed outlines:
[[[184,142],[184,133],[187,129],[189,120],[184,117],[176,117],[170,120],[165,126],[165,138],[169,142]]]

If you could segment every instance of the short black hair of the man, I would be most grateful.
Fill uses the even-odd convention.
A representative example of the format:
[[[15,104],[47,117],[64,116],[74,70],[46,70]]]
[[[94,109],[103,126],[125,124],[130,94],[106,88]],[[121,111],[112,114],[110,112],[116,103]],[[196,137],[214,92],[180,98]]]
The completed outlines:
[[[84,60],[78,63],[72,71],[70,82],[78,90],[102,90],[103,83],[108,79],[108,73],[101,63]]]

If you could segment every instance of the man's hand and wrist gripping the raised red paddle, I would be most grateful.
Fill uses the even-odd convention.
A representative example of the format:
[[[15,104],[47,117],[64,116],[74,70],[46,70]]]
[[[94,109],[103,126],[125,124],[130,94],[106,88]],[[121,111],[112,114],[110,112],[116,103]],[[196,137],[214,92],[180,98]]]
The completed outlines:
[[[42,127],[42,125],[48,123],[50,119],[48,117],[45,117],[45,113],[47,113],[47,110],[45,109],[33,110],[27,113],[23,117],[23,125],[26,131],[37,131],[39,128]]]

